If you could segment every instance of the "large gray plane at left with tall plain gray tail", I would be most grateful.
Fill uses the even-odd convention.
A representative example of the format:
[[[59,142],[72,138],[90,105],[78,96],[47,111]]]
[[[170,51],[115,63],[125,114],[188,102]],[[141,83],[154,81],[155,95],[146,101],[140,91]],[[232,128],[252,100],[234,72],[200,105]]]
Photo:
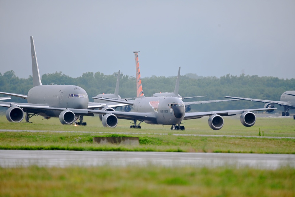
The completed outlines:
[[[0,94],[21,97],[27,100],[27,103],[16,102],[0,102],[0,106],[7,107],[6,118],[11,122],[21,122],[26,112],[25,120],[33,115],[41,115],[45,119],[50,117],[59,117],[62,124],[72,124],[80,120],[80,124],[86,125],[83,122],[83,116],[94,116],[94,113],[88,113],[87,109],[103,108],[106,104],[89,103],[86,91],[75,85],[42,85],[37,56],[35,51],[34,39],[31,36],[31,54],[32,54],[32,77],[33,87],[27,95],[0,92]],[[109,107],[122,106],[122,104],[108,105]],[[104,108],[107,109],[107,108]],[[76,111],[79,109],[78,111]],[[112,108],[111,108],[112,109]],[[100,110],[105,113],[104,110]]]

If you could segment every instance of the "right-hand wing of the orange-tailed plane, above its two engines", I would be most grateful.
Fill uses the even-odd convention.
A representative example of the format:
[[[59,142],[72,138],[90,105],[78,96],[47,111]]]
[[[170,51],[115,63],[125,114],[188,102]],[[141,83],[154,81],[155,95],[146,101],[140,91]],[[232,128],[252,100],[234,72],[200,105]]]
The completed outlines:
[[[189,112],[185,113],[183,120],[202,118],[208,115],[218,114],[221,116],[230,116],[236,114],[242,114],[244,112],[253,112],[253,111],[264,111],[264,110],[276,110],[278,108],[258,108],[258,109],[246,109],[246,110],[224,110],[224,111],[211,111],[211,112]]]

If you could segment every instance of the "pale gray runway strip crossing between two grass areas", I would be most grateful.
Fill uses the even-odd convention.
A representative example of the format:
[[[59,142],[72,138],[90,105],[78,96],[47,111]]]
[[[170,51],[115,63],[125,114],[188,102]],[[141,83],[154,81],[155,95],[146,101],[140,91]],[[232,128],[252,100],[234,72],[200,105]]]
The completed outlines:
[[[295,167],[295,155],[179,153],[179,152],[95,152],[60,150],[0,150],[0,167],[67,167],[67,166],[194,166],[253,167],[277,169]]]

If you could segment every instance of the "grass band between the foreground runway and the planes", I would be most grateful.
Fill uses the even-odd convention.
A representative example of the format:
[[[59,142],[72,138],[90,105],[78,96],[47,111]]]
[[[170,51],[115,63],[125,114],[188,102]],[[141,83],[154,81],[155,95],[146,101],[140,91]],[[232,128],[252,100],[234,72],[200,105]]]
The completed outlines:
[[[235,118],[227,118],[230,123],[222,131],[214,131],[209,128],[203,119],[187,122],[185,131],[171,131],[168,126],[145,125],[149,128],[130,129],[129,121],[120,121],[122,125],[117,128],[104,128],[98,118],[89,118],[87,126],[61,125],[57,118],[42,120],[34,117],[33,123],[10,123],[4,118],[0,120],[1,129],[22,129],[37,131],[65,131],[65,132],[0,132],[0,149],[21,149],[21,150],[88,150],[88,151],[162,151],[162,152],[223,152],[223,153],[277,153],[295,154],[295,139],[267,139],[267,138],[246,138],[246,137],[214,137],[214,136],[173,136],[172,133],[182,134],[218,134],[218,135],[239,135],[258,136],[259,128],[264,131],[264,136],[294,136],[294,120],[291,118],[260,118],[257,120],[259,128],[255,126],[247,128],[241,125]],[[87,118],[87,117],[86,117]],[[85,119],[86,119],[85,118]],[[4,120],[3,120],[4,119]],[[94,121],[94,122],[93,122]],[[207,121],[207,120],[206,120]],[[264,125],[262,125],[264,123]],[[261,124],[261,125],[260,125]],[[285,124],[285,130],[276,130],[279,125]],[[200,126],[200,130],[193,130]],[[267,125],[267,126],[265,126]],[[235,128],[246,129],[247,132],[235,131]],[[253,131],[253,129],[257,129]],[[71,131],[71,132],[67,132]],[[89,131],[87,133],[75,131]],[[103,133],[98,133],[103,132]],[[139,137],[139,146],[123,145],[100,145],[93,144],[92,138],[96,136],[117,136]],[[141,134],[128,134],[137,132]],[[150,134],[148,134],[150,133]],[[159,135],[165,133],[166,135]]]

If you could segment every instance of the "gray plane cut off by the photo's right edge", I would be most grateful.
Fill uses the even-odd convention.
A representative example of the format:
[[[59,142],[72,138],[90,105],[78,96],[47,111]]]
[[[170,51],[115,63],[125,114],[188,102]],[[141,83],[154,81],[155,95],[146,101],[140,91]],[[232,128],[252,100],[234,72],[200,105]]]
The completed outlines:
[[[230,96],[225,96],[225,98],[264,102],[266,103],[264,105],[264,108],[274,108],[275,104],[278,104],[280,106],[284,106],[284,111],[282,112],[282,116],[289,116],[290,115],[289,110],[295,109],[295,91],[294,90],[284,92],[281,95],[280,101],[242,98],[242,97],[230,97]],[[267,112],[271,113],[273,112],[273,110],[268,110]]]

